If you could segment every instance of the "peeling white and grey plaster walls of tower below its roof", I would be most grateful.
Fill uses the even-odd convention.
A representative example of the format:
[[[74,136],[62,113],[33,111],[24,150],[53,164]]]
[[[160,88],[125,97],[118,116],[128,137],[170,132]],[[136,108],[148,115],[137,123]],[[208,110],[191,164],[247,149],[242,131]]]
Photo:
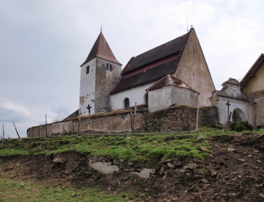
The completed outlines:
[[[112,71],[106,69],[111,64]],[[86,67],[90,72],[86,74]],[[81,117],[89,115],[88,104],[92,107],[90,114],[110,111],[110,91],[121,76],[121,65],[101,58],[94,58],[81,66],[80,109]]]

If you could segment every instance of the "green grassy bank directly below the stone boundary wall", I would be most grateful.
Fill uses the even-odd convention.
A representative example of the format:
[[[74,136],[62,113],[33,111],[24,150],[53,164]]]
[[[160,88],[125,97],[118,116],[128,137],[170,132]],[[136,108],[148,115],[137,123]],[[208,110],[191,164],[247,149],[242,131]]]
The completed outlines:
[[[208,138],[214,135],[231,135],[220,129],[200,127],[198,134],[149,135],[69,135],[48,138],[7,139],[0,144],[0,156],[10,155],[51,155],[67,151],[85,153],[88,156],[107,156],[126,161],[151,162],[157,164],[164,159],[184,159],[187,157],[203,160],[211,152]],[[247,131],[243,132],[249,133]],[[251,132],[264,133],[264,130]],[[166,137],[174,139],[165,141]],[[199,138],[198,138],[199,137]],[[205,149],[201,149],[205,147]],[[41,149],[40,149],[41,148]]]

